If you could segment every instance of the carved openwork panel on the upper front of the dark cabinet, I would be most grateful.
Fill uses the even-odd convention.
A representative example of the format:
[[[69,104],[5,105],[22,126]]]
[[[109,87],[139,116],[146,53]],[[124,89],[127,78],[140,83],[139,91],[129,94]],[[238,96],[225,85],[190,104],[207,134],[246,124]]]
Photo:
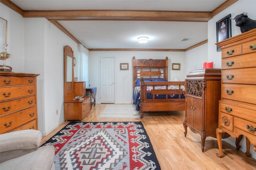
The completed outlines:
[[[187,81],[187,94],[192,94],[195,96],[202,96],[203,88],[205,87],[204,81]]]

